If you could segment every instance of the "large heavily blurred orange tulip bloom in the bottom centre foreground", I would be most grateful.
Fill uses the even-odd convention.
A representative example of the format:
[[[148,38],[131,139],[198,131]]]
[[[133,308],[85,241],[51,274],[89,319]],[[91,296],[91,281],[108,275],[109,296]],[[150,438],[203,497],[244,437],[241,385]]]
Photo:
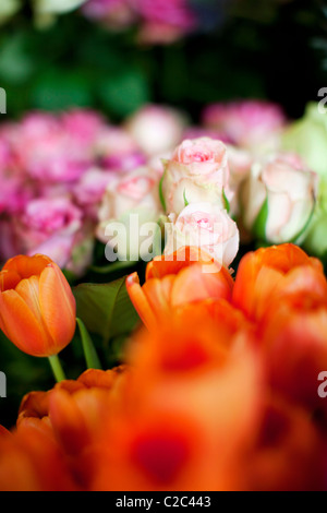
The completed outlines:
[[[220,306],[222,329],[211,312]],[[238,488],[262,395],[244,323],[226,301],[207,300],[140,332],[126,353],[133,386],[98,438],[94,490]]]

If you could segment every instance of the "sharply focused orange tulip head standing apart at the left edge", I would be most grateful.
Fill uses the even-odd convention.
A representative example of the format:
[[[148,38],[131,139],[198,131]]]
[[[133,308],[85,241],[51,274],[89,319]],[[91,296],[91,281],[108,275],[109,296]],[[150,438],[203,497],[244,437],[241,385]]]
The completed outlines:
[[[50,357],[75,332],[75,299],[59,266],[48,256],[19,255],[0,273],[0,329],[22,351]]]

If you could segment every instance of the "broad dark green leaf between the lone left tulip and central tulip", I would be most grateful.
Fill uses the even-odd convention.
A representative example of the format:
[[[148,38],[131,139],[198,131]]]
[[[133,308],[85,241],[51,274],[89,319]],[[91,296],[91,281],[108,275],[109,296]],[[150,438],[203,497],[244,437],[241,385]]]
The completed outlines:
[[[119,335],[128,336],[138,322],[124,277],[108,284],[77,285],[73,293],[77,317],[90,333],[102,337],[104,344]]]

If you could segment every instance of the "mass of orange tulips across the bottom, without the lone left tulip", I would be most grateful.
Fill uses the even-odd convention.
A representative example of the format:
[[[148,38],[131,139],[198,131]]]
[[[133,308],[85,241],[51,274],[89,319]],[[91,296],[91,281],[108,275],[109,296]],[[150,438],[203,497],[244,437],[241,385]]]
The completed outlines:
[[[128,290],[148,330],[125,366],[22,402],[0,430],[0,488],[324,490],[327,282],[292,244],[148,264]]]

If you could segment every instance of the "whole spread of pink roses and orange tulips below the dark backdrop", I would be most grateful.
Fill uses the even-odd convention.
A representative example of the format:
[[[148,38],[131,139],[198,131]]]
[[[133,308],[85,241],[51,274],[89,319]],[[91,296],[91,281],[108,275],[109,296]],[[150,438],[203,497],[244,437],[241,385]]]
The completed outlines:
[[[1,490],[326,489],[317,109],[1,126]]]

